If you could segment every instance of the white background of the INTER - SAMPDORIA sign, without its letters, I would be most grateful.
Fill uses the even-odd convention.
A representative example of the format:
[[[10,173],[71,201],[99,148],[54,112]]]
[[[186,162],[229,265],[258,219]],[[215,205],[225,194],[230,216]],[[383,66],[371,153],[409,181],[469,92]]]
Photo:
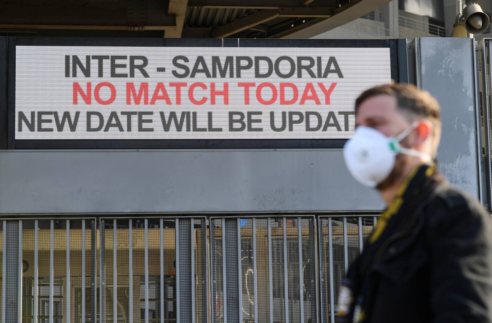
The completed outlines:
[[[71,75],[65,77],[65,56],[70,58],[76,55],[80,61],[86,64],[86,55],[91,56],[145,56],[148,59],[148,65],[145,70],[149,74],[146,78],[142,73],[135,69],[135,77],[110,77],[110,63],[106,59],[103,61],[103,77],[98,77],[98,62],[95,59],[91,60],[91,76],[85,77],[80,69],[77,69],[77,76]],[[274,72],[267,78],[255,78],[254,64],[248,70],[241,71],[241,77],[236,77],[234,70],[233,78],[221,78],[217,73],[215,78],[207,78],[204,73],[197,73],[194,78],[188,77],[177,78],[172,74],[175,70],[178,73],[183,73],[180,69],[173,65],[173,58],[176,56],[186,56],[189,59],[188,63],[183,60],[179,62],[189,67],[190,71],[195,64],[198,56],[203,56],[207,67],[212,73],[212,56],[218,56],[222,64],[226,56],[234,58],[234,68],[236,68],[236,57],[247,56],[253,59],[257,56],[266,56],[274,63],[281,56],[288,56],[296,62],[297,57],[311,57],[314,61],[317,57],[321,58],[321,71],[325,70],[328,59],[335,57],[343,78],[339,78],[337,73],[330,73],[326,78],[312,78],[304,70],[302,78],[298,78],[297,70],[294,75],[289,78],[280,78]],[[136,61],[138,64],[141,61]],[[117,68],[117,73],[129,73],[128,59],[119,59],[117,63],[124,63],[127,68]],[[245,64],[245,62],[243,62]],[[304,63],[306,64],[306,62]],[[165,72],[157,72],[157,67],[164,67]],[[201,66],[202,67],[202,66]],[[331,67],[332,70],[334,67]],[[286,60],[282,60],[279,69],[283,74],[288,73],[290,64]],[[260,73],[265,73],[268,70],[267,63],[261,61]],[[312,68],[312,71],[317,75],[317,65]],[[348,125],[345,125],[345,117],[339,115],[339,112],[353,112],[354,101],[357,96],[367,88],[375,85],[391,82],[390,68],[390,50],[389,48],[217,48],[217,47],[101,47],[101,46],[16,46],[16,80],[15,80],[15,139],[346,139],[353,136],[354,132],[354,116],[348,117]],[[229,76],[229,73],[226,74]],[[86,104],[83,98],[78,96],[78,104],[73,104],[73,84],[77,82],[80,87],[86,91],[87,83],[91,82],[92,92],[94,87],[101,82],[109,82],[116,89],[116,98],[114,102],[102,105],[96,102],[92,93],[92,103]],[[165,100],[157,100],[154,105],[145,105],[143,101],[140,104],[135,104],[131,100],[131,104],[126,104],[126,83],[132,82],[138,92],[140,84],[147,82],[149,85],[149,102],[154,93],[154,88],[158,82],[162,82],[167,90],[171,104],[167,104]],[[170,87],[169,83],[183,82],[187,86],[181,89],[181,104],[176,104],[175,88]],[[193,95],[199,100],[202,97],[207,97],[207,102],[203,105],[193,104],[188,98],[188,88],[192,83],[202,82],[207,86],[207,89],[195,88]],[[265,105],[258,102],[255,94],[256,87],[249,89],[250,102],[245,104],[245,91],[243,87],[238,86],[238,83],[255,83],[257,87],[261,83],[271,83],[275,85],[277,91],[280,83],[293,83],[299,90],[299,99],[295,104],[281,105],[279,98],[273,104]],[[228,83],[229,102],[224,104],[223,96],[216,96],[215,105],[211,104],[210,100],[210,85],[215,83],[216,90],[222,90],[224,83]],[[305,104],[300,104],[302,93],[304,92],[307,83],[312,83],[316,95],[319,97],[320,104],[312,99],[307,99]],[[318,83],[323,83],[326,89],[330,88],[332,83],[336,83],[333,92],[330,95],[330,103],[325,103],[325,95],[323,94]],[[162,94],[162,93],[161,93]],[[263,88],[261,96],[265,100],[272,98],[272,90]],[[294,93],[292,90],[285,91],[286,99],[291,99]],[[312,95],[312,93],[309,93]],[[277,95],[278,96],[278,95]],[[102,100],[110,98],[110,90],[107,87],[102,87],[100,90]],[[152,120],[152,122],[143,123],[145,128],[152,128],[153,131],[138,131],[138,120],[136,116],[131,118],[131,131],[128,131],[127,117],[122,116],[121,112],[153,112],[152,116],[144,116],[142,118]],[[32,122],[34,131],[31,131],[25,121],[22,121],[22,131],[19,131],[19,115],[22,112],[28,120],[31,120],[31,112],[34,114],[34,122]],[[45,114],[41,118],[45,121],[41,124],[41,128],[53,129],[53,131],[39,131],[38,127],[38,112],[57,112],[59,119],[62,119],[64,112],[69,112],[72,120],[75,113],[80,112],[75,131],[70,131],[67,122],[59,131],[53,115]],[[98,112],[104,117],[104,124],[100,131],[87,131],[87,112]],[[122,127],[112,126],[106,128],[106,123],[111,112],[116,112]],[[163,113],[168,119],[170,112],[177,114],[178,120],[182,112],[189,113],[189,122],[192,123],[192,113],[196,113],[196,121],[194,125],[185,125],[182,131],[177,131],[176,127],[171,125],[168,131],[164,131],[160,113]],[[212,121],[208,120],[209,112],[212,112]],[[248,128],[243,131],[229,131],[229,112],[242,112],[247,115],[248,112],[261,112],[261,115],[254,115],[252,119],[258,119],[258,122],[253,122],[251,127],[261,128],[262,131],[248,131]],[[274,131],[271,127],[271,112],[274,112],[275,126],[282,125],[282,112],[285,112],[286,126],[283,131]],[[322,125],[317,131],[306,131],[306,122],[294,123],[289,127],[288,113],[300,112],[305,117],[306,112],[316,112],[322,118]],[[329,125],[325,122],[330,112],[332,116],[336,116],[337,121],[328,118]],[[237,118],[237,116],[236,116]],[[299,115],[292,117],[297,120]],[[49,121],[51,120],[51,122]],[[115,122],[115,120],[112,120]],[[261,122],[260,122],[261,121]],[[92,118],[92,124],[97,125],[99,122],[97,117]],[[212,122],[214,128],[221,128],[222,131],[208,131],[209,123]],[[244,122],[247,122],[245,117]],[[316,117],[311,117],[311,127],[315,126],[318,121]],[[338,122],[339,127],[334,125]],[[247,124],[247,123],[246,123]],[[114,125],[114,124],[113,124]],[[240,123],[235,123],[234,127],[241,126]],[[326,126],[326,127],[325,127]],[[346,127],[348,126],[348,128]],[[123,131],[121,131],[123,128]],[[186,131],[186,129],[189,131]],[[193,131],[196,128],[205,128],[205,131]],[[323,131],[323,128],[325,131]],[[348,131],[346,130],[348,129]],[[61,130],[61,129],[60,129]]]

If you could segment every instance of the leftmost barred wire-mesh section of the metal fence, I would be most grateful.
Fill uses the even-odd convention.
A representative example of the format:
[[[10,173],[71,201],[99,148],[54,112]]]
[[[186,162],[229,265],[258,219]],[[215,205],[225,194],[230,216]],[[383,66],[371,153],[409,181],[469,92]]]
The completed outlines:
[[[95,219],[0,221],[1,322],[95,322]]]

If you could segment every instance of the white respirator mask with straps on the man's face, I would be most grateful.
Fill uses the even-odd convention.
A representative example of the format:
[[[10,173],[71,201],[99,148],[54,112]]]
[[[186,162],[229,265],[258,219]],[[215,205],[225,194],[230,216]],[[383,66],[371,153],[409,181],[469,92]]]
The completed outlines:
[[[429,162],[429,154],[400,145],[418,125],[418,122],[412,123],[396,137],[386,137],[376,129],[358,126],[354,138],[349,139],[343,147],[343,157],[350,174],[361,184],[374,188],[388,178],[395,167],[398,154]]]

